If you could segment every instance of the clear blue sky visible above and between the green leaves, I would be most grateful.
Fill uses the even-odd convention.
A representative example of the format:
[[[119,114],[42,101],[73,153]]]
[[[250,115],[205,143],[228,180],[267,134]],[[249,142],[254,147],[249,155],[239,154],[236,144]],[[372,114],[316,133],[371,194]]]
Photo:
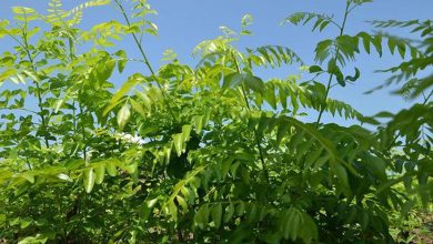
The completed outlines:
[[[48,7],[46,0],[2,0],[0,8],[1,19],[11,18],[10,7],[27,6],[37,9],[43,13]],[[63,0],[66,9],[70,9],[82,0]],[[344,0],[150,0],[149,3],[159,14],[152,17],[160,29],[159,37],[145,37],[144,49],[154,68],[161,64],[162,53],[165,49],[173,49],[178,53],[181,62],[195,64],[197,59],[191,55],[192,49],[200,41],[212,39],[221,34],[220,26],[226,26],[234,30],[239,29],[241,18],[250,13],[254,17],[251,26],[253,35],[243,38],[239,48],[260,47],[263,44],[280,44],[293,49],[300,54],[308,64],[313,64],[316,42],[322,39],[332,38],[338,34],[338,30],[324,31],[324,33],[312,33],[311,27],[280,26],[284,17],[298,11],[311,11],[326,14],[334,14],[338,22],[342,20],[344,11]],[[367,20],[425,20],[432,17],[432,0],[376,0],[366,3],[352,13],[346,24],[349,34],[354,34],[361,30],[370,31],[371,27]],[[100,7],[89,9],[84,12],[84,20],[81,28],[88,29],[92,24],[108,21],[110,19],[121,20],[120,13],[112,7]],[[407,32],[393,30],[394,34],[407,35]],[[10,47],[7,40],[0,40],[0,51]],[[120,43],[119,49],[125,49],[131,58],[139,58],[133,48],[132,39],[127,38]],[[361,68],[361,78],[355,85],[346,88],[335,87],[331,91],[331,96],[352,104],[355,109],[366,115],[372,115],[379,111],[397,111],[401,108],[410,106],[413,101],[404,101],[400,96],[390,95],[390,90],[380,91],[370,95],[363,94],[381,84],[387,74],[374,73],[374,70],[387,68],[401,62],[399,57],[391,57],[387,52],[379,59],[376,54],[360,54],[355,63]],[[130,65],[129,72],[137,72],[134,69],[141,69],[137,65]],[[279,77],[284,78],[293,73],[293,69],[283,68],[271,72],[259,73],[264,78]],[[125,79],[125,78],[124,78]],[[325,78],[323,78],[324,82]],[[119,85],[122,81],[115,81]],[[324,118],[330,121],[330,116]]]

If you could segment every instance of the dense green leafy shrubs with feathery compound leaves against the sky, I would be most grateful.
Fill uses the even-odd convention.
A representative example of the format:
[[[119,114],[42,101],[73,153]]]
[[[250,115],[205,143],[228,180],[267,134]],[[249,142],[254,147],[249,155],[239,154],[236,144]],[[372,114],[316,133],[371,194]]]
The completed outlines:
[[[245,16],[239,33],[195,48],[197,65],[168,52],[155,69],[141,41],[158,34],[145,0],[112,0],[124,19],[77,28],[109,2],[67,11],[51,0],[46,16],[17,7],[0,22],[16,42],[0,57],[0,242],[392,243],[413,207],[431,204],[433,77],[419,75],[433,63],[430,20],[371,22],[419,34],[409,40],[348,35],[367,0],[348,0],[341,22],[293,13],[283,22],[340,30],[303,63],[286,47],[238,50]],[[122,50],[127,35],[140,57]],[[377,89],[399,84],[419,103],[366,116],[329,96],[362,75],[344,69],[359,53],[385,51],[404,60]],[[131,61],[145,69],[123,78]],[[283,65],[306,73],[254,73]],[[115,92],[112,75],[124,80]],[[300,120],[309,111],[313,123]],[[323,123],[324,113],[355,123]]]

